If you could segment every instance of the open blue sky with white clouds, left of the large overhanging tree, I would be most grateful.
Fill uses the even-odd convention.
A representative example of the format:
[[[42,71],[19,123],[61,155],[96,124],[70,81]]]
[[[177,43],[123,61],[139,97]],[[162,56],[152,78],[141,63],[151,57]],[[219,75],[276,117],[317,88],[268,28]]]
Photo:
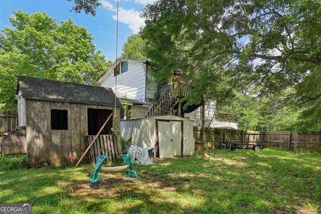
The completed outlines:
[[[36,12],[46,12],[57,23],[71,18],[78,26],[86,27],[94,37],[93,43],[97,50],[101,50],[106,59],[116,60],[116,15],[117,0],[100,0],[102,6],[96,10],[96,16],[84,12],[77,14],[70,12],[75,3],[72,0],[0,0],[0,29],[13,28],[9,17],[14,16],[14,11],[19,9],[29,15]],[[122,44],[127,37],[138,33],[143,20],[139,17],[146,4],[152,4],[155,0],[119,0],[118,8],[118,48],[117,56],[121,54]]]

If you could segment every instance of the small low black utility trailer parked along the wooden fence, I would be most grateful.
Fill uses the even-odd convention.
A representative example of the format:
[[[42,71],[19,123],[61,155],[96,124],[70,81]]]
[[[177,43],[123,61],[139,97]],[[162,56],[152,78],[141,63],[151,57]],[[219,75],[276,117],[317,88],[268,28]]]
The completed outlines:
[[[235,149],[252,149],[259,152],[264,148],[264,134],[246,133],[242,143],[237,142],[223,142],[220,144],[220,149],[228,149],[234,151]]]

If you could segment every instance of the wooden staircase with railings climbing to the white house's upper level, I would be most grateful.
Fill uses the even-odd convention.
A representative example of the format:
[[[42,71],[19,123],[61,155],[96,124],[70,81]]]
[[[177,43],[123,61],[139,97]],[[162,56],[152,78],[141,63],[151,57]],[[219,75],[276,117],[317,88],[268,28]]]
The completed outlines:
[[[181,100],[192,91],[192,88],[184,86],[174,88],[173,85],[167,85],[159,88],[158,91],[161,97],[148,110],[145,117],[168,114],[183,116],[184,113],[190,113],[200,106],[189,106],[187,109],[183,109],[186,101]]]

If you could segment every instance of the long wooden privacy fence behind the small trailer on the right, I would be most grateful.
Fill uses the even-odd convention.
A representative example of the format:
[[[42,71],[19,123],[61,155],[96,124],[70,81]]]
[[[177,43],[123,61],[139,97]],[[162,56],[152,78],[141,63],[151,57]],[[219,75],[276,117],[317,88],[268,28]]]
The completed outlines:
[[[219,148],[221,143],[264,144],[266,148],[321,150],[321,133],[259,132],[235,129],[206,128],[202,142],[202,128],[194,127],[196,146]]]

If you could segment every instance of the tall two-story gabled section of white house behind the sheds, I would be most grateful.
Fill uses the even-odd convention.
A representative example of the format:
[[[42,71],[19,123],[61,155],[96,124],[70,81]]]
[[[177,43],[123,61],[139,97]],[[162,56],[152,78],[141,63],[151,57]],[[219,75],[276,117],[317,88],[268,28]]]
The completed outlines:
[[[150,68],[146,60],[118,59],[98,81],[102,87],[110,86],[127,106],[121,119],[129,119],[128,115],[130,118],[144,117],[154,103],[158,87],[149,75]]]

